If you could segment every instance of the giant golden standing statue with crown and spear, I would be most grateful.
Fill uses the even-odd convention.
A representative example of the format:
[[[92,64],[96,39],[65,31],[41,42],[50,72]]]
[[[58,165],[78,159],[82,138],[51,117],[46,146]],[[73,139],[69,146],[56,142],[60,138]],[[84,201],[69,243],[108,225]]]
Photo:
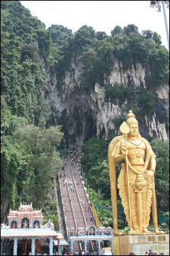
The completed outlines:
[[[155,233],[158,230],[156,212],[156,195],[154,188],[154,172],[156,156],[150,143],[139,134],[137,119],[129,111],[126,122],[120,126],[122,136],[115,137],[109,143],[109,176],[112,195],[112,212],[114,234],[118,233],[117,196],[116,196],[116,162],[124,160],[118,177],[119,195],[131,230],[129,234],[151,233],[148,231],[150,208]]]

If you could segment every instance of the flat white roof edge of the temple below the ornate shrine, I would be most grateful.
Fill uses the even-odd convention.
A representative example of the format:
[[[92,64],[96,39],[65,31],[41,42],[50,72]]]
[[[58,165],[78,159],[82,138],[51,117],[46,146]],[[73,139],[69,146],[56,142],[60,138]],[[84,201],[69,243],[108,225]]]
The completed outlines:
[[[50,228],[24,228],[24,229],[1,229],[1,238],[27,238],[27,237],[48,237],[53,236],[56,239],[56,231]]]

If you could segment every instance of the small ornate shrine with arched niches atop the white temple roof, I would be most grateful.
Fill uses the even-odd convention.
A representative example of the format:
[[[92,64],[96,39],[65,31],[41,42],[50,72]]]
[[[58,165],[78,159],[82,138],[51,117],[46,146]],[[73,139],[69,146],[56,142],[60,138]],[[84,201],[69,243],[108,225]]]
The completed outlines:
[[[20,203],[19,210],[11,210],[7,216],[10,228],[39,228],[42,227],[44,216],[40,210],[33,210],[32,203],[30,205],[22,205]]]

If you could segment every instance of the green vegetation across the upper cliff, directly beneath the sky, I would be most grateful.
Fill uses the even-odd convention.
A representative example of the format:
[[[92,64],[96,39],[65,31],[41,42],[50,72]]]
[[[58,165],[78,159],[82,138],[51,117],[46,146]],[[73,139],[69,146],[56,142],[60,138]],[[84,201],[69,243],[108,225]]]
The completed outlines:
[[[1,1],[1,94],[12,114],[41,127],[50,123],[49,106],[44,102],[49,84],[53,85],[55,77],[58,91],[65,92],[65,74],[69,71],[74,76],[71,63],[78,60],[82,70],[75,94],[90,94],[99,83],[105,87],[107,101],[122,104],[127,99],[137,113],[146,111],[148,116],[155,109],[156,89],[169,83],[169,53],[156,32],[141,34],[135,25],[116,26],[110,36],[86,25],[75,33],[62,25],[46,30],[20,1]],[[147,88],[141,84],[134,89],[130,78],[127,85],[112,85],[107,77],[115,61],[120,74],[136,70],[137,63],[146,68]],[[139,95],[135,102],[134,95]]]

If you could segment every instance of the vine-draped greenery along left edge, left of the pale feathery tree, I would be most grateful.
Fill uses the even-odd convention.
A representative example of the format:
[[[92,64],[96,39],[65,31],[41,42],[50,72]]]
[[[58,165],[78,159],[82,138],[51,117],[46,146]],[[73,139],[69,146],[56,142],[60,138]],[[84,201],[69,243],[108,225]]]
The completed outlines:
[[[16,208],[16,201],[22,193],[24,162],[14,141],[14,132],[25,126],[27,120],[12,115],[1,97],[1,222],[5,223],[9,205]],[[16,197],[14,196],[16,195]]]

